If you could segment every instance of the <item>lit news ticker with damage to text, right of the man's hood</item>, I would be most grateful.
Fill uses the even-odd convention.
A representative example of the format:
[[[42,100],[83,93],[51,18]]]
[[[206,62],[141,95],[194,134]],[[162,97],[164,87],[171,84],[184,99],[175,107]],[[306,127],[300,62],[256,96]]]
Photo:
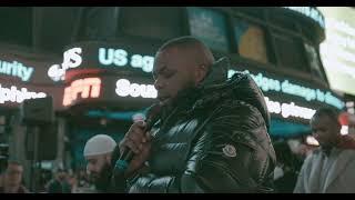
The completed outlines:
[[[227,77],[233,77],[237,71],[251,76],[265,97],[268,112],[278,119],[307,124],[316,109],[322,106],[331,106],[338,110],[345,107],[342,98],[327,88],[264,71],[251,63],[232,61]]]

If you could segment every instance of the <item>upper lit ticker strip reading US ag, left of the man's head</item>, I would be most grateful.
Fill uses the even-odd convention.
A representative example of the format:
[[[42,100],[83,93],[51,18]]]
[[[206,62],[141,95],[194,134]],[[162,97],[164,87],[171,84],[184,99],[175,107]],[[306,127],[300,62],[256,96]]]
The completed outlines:
[[[155,49],[151,44],[144,48],[142,46],[105,42],[74,43],[64,51],[62,63],[49,67],[48,77],[55,82],[63,81],[65,71],[80,68],[121,72],[129,70],[151,77],[154,62],[152,52]]]

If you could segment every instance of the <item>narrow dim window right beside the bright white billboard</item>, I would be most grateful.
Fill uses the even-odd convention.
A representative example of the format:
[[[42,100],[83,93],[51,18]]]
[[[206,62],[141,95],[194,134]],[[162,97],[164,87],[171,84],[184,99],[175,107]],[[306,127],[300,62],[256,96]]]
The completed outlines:
[[[308,43],[304,43],[304,48],[306,50],[306,54],[308,58],[312,76],[325,81],[326,79],[325,79],[324,73],[321,69],[321,62],[318,60],[317,52],[316,52],[315,48]]]

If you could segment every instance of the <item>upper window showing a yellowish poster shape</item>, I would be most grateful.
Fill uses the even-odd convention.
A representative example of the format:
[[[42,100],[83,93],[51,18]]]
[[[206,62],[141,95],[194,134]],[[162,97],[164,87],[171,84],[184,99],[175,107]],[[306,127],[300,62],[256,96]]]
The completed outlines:
[[[264,30],[243,20],[235,19],[234,37],[240,56],[267,63]]]

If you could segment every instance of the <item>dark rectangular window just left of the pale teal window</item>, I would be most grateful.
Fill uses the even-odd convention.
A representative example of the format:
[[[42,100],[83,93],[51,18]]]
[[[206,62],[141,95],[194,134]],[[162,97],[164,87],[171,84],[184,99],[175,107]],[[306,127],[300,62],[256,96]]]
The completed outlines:
[[[119,27],[130,36],[166,40],[182,34],[181,11],[173,7],[121,8]]]

